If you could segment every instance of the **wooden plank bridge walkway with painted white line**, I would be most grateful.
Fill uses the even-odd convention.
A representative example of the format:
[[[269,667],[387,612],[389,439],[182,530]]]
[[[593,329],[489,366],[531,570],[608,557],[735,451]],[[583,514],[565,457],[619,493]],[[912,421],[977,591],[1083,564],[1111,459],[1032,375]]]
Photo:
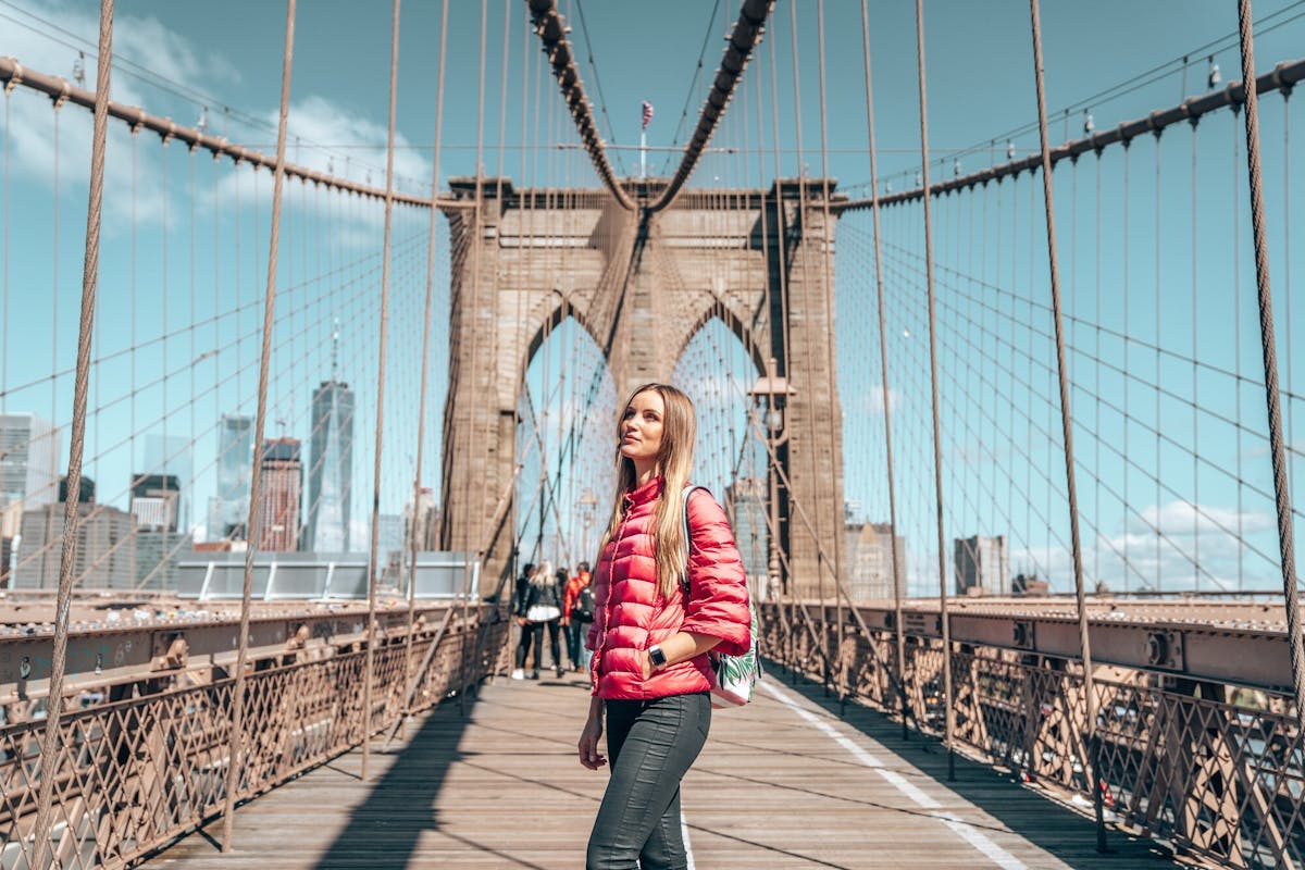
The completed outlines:
[[[878,713],[843,719],[818,686],[771,673],[746,710],[716,711],[684,784],[694,866],[934,870],[1150,870],[1191,866],[1150,840],[1111,832],[963,758],[946,781],[933,741],[903,741]],[[585,863],[606,772],[576,760],[589,703],[581,676],[500,678],[410,727],[410,740],[343,755],[236,813],[235,848],[221,822],[183,839],[150,867],[568,869]]]

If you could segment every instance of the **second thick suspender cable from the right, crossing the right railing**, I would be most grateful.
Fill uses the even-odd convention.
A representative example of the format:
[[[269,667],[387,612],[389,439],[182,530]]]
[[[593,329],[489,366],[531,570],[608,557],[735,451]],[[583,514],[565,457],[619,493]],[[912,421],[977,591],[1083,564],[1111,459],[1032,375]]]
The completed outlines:
[[[1056,257],[1056,210],[1052,200],[1052,153],[1047,141],[1047,89],[1043,73],[1043,33],[1037,0],[1028,0],[1034,31],[1034,77],[1037,82],[1037,132],[1043,146],[1043,201],[1047,209],[1047,262],[1051,269],[1052,318],[1056,327],[1056,370],[1060,374],[1061,434],[1065,440],[1065,489],[1069,498],[1069,532],[1074,556],[1074,600],[1078,604],[1078,643],[1083,661],[1084,723],[1083,767],[1096,814],[1096,850],[1105,852],[1105,822],[1096,755],[1096,689],[1092,681],[1092,648],[1087,633],[1087,605],[1083,600],[1083,545],[1078,530],[1078,489],[1074,481],[1074,427],[1069,410],[1069,382],[1065,376],[1065,327],[1061,318],[1060,263]],[[1159,287],[1156,287],[1159,293]]]

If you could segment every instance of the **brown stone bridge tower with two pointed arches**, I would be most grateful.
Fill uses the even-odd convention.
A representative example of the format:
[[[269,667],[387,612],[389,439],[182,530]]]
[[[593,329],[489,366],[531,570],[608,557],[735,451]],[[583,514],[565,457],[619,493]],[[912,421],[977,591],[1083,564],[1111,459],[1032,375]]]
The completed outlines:
[[[774,357],[792,387],[775,447],[784,473],[770,487],[788,556],[782,582],[801,597],[833,597],[829,562],[840,557],[843,527],[833,329],[842,197],[827,209],[822,180],[786,179],[767,190],[685,190],[651,211],[664,180],[626,184],[638,211],[606,190],[517,190],[508,179],[480,179],[478,209],[476,180],[450,180],[442,545],[484,553],[482,593],[510,580],[518,398],[552,327],[573,317],[592,337],[624,402],[639,383],[669,381],[715,318],[757,377]],[[586,425],[615,432],[616,421]]]

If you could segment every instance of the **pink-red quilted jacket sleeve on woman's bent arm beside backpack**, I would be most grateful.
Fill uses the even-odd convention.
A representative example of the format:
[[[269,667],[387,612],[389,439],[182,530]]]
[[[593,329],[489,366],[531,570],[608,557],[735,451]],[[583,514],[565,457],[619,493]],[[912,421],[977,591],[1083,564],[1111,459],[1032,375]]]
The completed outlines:
[[[739,656],[752,647],[748,580],[724,509],[707,492],[689,496],[689,597],[681,631],[720,638]]]

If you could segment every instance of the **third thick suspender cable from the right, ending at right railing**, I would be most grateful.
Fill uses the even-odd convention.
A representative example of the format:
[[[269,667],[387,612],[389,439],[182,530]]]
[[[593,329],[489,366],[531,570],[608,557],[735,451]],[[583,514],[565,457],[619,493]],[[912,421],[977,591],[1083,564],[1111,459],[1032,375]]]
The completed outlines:
[[[938,621],[942,629],[942,702],[945,707],[942,745],[947,749],[947,779],[957,777],[957,757],[951,746],[955,710],[951,703],[951,622],[947,618],[947,550],[942,535],[942,446],[938,427],[938,340],[933,313],[933,232],[929,226],[929,107],[924,83],[924,0],[915,0],[915,42],[920,82],[920,202],[924,206],[924,274],[929,291],[929,381],[933,400],[933,490],[938,519]],[[897,578],[894,578],[895,582]]]

